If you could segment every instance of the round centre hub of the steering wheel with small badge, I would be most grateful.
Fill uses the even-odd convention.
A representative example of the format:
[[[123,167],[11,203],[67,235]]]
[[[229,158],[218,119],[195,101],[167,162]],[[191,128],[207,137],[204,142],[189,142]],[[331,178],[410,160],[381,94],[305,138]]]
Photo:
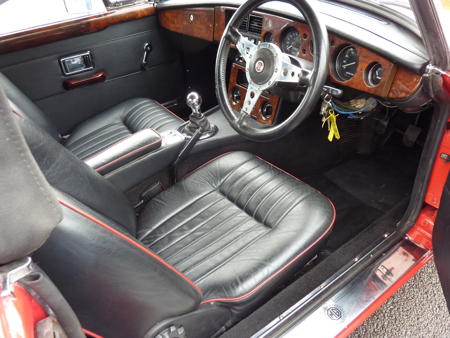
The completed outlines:
[[[260,89],[273,85],[274,75],[277,71],[279,56],[277,46],[270,43],[261,43],[250,58],[247,65],[249,81]]]

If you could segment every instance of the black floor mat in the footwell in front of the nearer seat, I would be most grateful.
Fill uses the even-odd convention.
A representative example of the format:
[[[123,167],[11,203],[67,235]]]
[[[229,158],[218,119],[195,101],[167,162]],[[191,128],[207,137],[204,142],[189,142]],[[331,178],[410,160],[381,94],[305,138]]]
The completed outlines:
[[[333,201],[336,221],[325,249],[334,251],[411,192],[419,150],[387,146],[303,178]]]

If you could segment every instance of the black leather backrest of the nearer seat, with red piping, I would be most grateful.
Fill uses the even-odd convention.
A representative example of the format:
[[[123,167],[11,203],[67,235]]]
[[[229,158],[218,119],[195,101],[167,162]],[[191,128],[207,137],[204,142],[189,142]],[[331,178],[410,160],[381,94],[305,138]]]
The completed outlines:
[[[125,196],[32,121],[13,116],[63,211],[34,258],[83,327],[106,337],[143,337],[158,322],[194,311],[201,291],[136,240]]]

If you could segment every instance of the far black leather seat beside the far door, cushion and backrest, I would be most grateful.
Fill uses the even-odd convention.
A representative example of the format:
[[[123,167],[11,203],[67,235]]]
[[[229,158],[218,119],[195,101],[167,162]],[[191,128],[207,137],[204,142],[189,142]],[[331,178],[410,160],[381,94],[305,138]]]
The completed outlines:
[[[139,130],[151,128],[164,132],[176,129],[184,122],[154,100],[134,98],[81,123],[63,139],[39,107],[1,73],[0,84],[15,113],[29,118],[81,159],[99,153]]]

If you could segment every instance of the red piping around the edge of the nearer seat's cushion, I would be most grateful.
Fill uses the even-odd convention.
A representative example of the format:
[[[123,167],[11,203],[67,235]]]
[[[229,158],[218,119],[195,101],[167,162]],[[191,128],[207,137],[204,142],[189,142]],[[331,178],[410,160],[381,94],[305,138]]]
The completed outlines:
[[[215,160],[215,159],[217,159],[217,158],[219,158],[219,157],[222,157],[222,156],[224,156],[224,155],[226,155],[226,154],[228,154],[228,153],[222,154],[222,155],[220,155],[220,156],[214,158],[213,160]],[[260,157],[258,157],[258,156],[256,156],[256,157],[257,157],[258,159],[260,159],[261,161],[267,163],[267,164],[270,165],[271,167],[276,168],[276,169],[280,170],[281,172],[285,173],[286,175],[288,175],[288,176],[294,178],[295,180],[304,183],[304,182],[301,181],[299,178],[297,178],[297,177],[295,177],[294,175],[288,173],[287,171],[285,171],[285,170],[283,170],[283,169],[277,167],[276,165],[274,165],[274,164],[272,164],[272,163],[270,163],[270,162],[267,162],[266,160],[264,160],[264,159],[262,159],[262,158],[260,158]],[[213,160],[211,160],[211,161],[213,161]],[[211,161],[209,161],[209,162],[211,162]],[[205,163],[203,166],[205,166],[205,165],[208,164],[209,162]],[[201,167],[203,167],[203,166],[201,166]],[[199,167],[199,168],[201,168],[201,167]],[[199,169],[199,168],[197,168],[197,169]],[[196,170],[197,170],[197,169],[196,169]],[[195,170],[194,170],[194,171],[195,171]],[[304,184],[306,184],[306,183],[304,183]],[[322,194],[322,193],[321,193],[320,191],[318,191],[318,190],[317,190],[317,192],[319,192],[320,194]],[[323,194],[322,194],[322,195],[323,195]],[[330,230],[333,228],[334,221],[336,220],[336,208],[334,207],[333,202],[331,202],[331,200],[330,200],[327,196],[325,196],[325,195],[323,195],[323,196],[330,202],[330,205],[331,205],[331,207],[333,208],[333,219],[331,220],[331,223],[330,223],[330,225],[328,226],[328,228],[325,230],[325,232],[324,232],[322,235],[320,235],[320,237],[318,237],[318,238],[317,238],[313,243],[311,243],[305,250],[303,250],[302,252],[300,252],[297,256],[295,256],[295,257],[294,257],[293,259],[291,259],[288,263],[286,263],[284,266],[282,266],[280,269],[278,269],[274,274],[272,274],[271,276],[269,276],[268,278],[266,278],[264,281],[262,281],[260,284],[258,284],[256,287],[254,287],[254,288],[253,288],[252,290],[250,290],[249,292],[247,292],[247,293],[245,293],[245,294],[243,294],[243,295],[241,295],[241,296],[238,296],[238,297],[231,297],[231,298],[212,298],[212,299],[207,299],[207,300],[204,300],[203,302],[201,302],[200,305],[208,304],[208,303],[214,303],[214,302],[235,302],[235,301],[240,301],[240,300],[242,300],[242,299],[245,299],[245,298],[251,296],[251,295],[254,294],[256,291],[258,291],[259,289],[261,289],[264,285],[266,285],[267,283],[269,283],[272,279],[274,279],[275,277],[277,277],[277,276],[278,276],[280,273],[282,273],[284,270],[286,270],[290,265],[292,265],[296,260],[298,260],[300,257],[302,257],[305,253],[307,253],[307,252],[308,252],[312,247],[314,247],[318,242],[320,242],[320,240],[321,240],[322,238],[324,238],[324,237],[330,232]]]

